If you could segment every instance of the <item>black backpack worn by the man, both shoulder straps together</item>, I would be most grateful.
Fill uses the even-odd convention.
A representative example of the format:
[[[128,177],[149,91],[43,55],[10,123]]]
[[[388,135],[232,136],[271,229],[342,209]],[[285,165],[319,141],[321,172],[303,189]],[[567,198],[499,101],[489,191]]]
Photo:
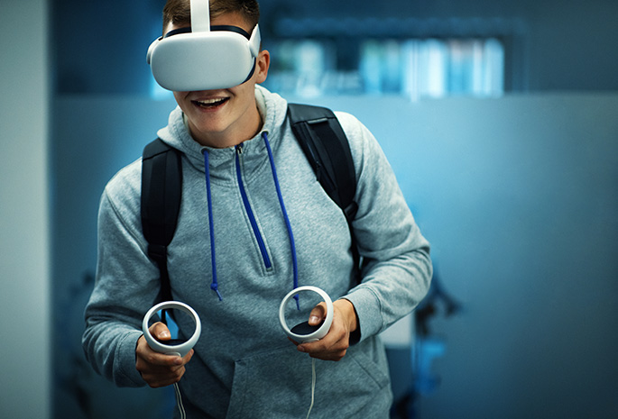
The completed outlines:
[[[352,220],[356,178],[346,134],[330,109],[311,105],[288,105],[291,129],[305,152],[320,185],[346,215],[355,268],[360,257]],[[142,159],[142,229],[148,241],[148,256],[161,272],[161,301],[171,299],[167,269],[167,246],[176,231],[182,191],[180,151],[161,139],[150,142]]]

